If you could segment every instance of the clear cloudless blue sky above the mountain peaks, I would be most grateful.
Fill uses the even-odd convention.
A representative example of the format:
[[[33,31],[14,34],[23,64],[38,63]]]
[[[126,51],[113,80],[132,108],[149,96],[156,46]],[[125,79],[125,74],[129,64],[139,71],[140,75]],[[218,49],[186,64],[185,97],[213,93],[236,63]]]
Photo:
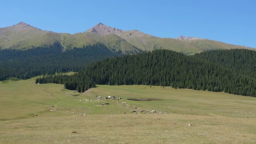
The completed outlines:
[[[102,22],[162,38],[191,36],[256,48],[254,0],[3,0],[0,10],[0,28],[25,22],[74,34]]]

